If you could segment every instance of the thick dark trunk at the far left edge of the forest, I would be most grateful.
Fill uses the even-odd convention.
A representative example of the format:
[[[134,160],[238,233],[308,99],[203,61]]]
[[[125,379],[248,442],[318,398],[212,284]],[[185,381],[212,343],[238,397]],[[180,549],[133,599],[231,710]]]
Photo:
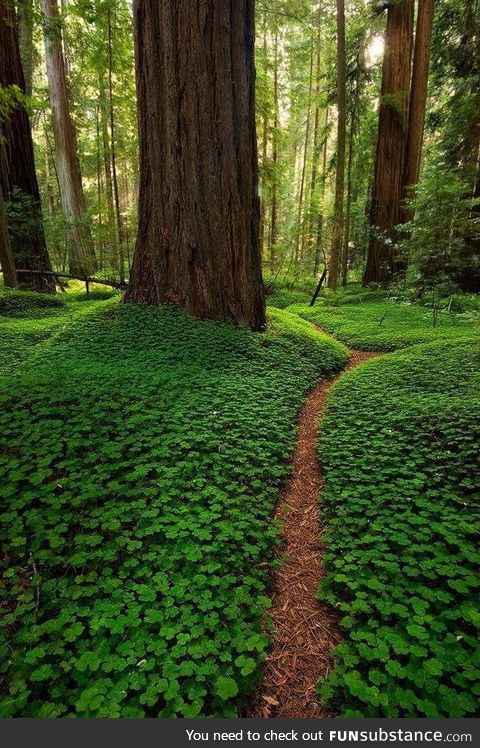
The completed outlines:
[[[13,4],[0,0],[0,85],[16,86],[25,93],[25,80]],[[25,107],[13,104],[0,118],[0,188],[6,205],[17,204],[22,224],[10,236],[17,270],[51,270],[38,190],[32,133]],[[24,290],[55,292],[48,278],[18,274],[18,287]]]

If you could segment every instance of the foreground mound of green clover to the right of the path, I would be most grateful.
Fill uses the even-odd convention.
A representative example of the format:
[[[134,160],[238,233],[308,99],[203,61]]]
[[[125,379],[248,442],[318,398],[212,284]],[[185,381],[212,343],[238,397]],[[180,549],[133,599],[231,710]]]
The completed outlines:
[[[344,641],[320,694],[342,716],[478,710],[479,364],[478,343],[439,340],[370,361],[332,391],[320,594]]]

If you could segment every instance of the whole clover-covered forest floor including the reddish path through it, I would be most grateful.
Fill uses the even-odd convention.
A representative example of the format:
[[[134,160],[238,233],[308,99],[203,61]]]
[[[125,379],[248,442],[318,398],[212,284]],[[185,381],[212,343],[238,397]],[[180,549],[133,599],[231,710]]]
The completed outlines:
[[[475,712],[478,298],[302,300],[0,293],[2,717]]]

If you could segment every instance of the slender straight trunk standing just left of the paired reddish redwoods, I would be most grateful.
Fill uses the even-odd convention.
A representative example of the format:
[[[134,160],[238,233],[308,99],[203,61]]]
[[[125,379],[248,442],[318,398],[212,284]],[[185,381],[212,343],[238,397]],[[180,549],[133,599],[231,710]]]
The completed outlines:
[[[343,201],[345,191],[346,141],[346,60],[345,2],[337,0],[337,165],[335,173],[335,208],[333,235],[328,269],[328,287],[335,289],[340,275],[343,237]]]

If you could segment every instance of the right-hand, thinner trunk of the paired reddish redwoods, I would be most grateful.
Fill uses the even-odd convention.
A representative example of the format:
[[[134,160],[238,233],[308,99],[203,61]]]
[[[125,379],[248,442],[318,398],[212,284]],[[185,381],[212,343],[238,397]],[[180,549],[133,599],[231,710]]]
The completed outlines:
[[[428,93],[428,71],[430,68],[430,48],[432,42],[435,0],[422,0],[418,4],[415,49],[413,53],[412,87],[408,113],[407,147],[405,172],[403,177],[404,197],[414,197],[414,188],[420,176],[425,108]],[[403,218],[411,221],[413,209],[406,208]]]

